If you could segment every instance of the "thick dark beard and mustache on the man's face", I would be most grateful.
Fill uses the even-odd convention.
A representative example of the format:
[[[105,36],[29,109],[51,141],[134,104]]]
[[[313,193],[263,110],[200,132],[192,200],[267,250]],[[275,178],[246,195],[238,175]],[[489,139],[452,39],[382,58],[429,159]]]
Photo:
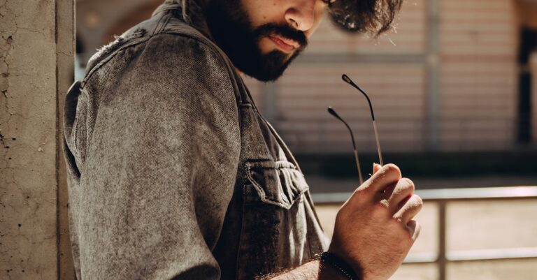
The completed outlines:
[[[304,50],[308,40],[303,32],[287,24],[263,24],[253,27],[241,0],[211,0],[207,24],[217,45],[238,70],[264,82],[280,78],[287,66]],[[263,54],[259,42],[267,36],[295,40],[300,47],[292,54],[272,50]]]

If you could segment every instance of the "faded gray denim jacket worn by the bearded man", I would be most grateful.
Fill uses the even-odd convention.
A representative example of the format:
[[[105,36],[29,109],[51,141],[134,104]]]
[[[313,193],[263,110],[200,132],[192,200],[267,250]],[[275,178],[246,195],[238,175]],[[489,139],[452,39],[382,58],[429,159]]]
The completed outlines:
[[[79,280],[254,279],[327,249],[299,165],[201,5],[166,1],[66,96]]]

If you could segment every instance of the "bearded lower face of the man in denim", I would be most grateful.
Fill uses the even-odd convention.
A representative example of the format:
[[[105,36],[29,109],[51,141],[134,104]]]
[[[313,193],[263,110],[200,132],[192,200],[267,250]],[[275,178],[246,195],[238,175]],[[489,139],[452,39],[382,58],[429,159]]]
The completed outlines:
[[[326,8],[323,0],[212,0],[207,21],[236,68],[271,81],[304,50]]]

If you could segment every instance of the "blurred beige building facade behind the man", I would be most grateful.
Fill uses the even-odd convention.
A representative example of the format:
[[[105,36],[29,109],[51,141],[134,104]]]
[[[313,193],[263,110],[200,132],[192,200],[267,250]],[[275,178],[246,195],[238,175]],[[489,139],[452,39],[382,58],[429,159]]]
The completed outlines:
[[[81,64],[160,3],[78,0]],[[534,149],[536,19],[535,0],[407,0],[392,32],[367,38],[324,20],[280,80],[245,80],[297,154],[349,152],[348,131],[329,105],[350,123],[361,152],[375,152],[366,100],[343,73],[371,96],[385,151]]]

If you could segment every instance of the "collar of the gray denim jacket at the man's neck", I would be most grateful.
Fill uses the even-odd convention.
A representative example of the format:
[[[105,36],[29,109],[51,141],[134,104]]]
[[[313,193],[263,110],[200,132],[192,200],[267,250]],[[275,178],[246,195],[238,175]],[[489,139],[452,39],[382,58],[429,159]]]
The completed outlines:
[[[213,40],[206,20],[205,7],[210,0],[165,0],[153,15],[164,10],[181,10],[183,20]],[[214,41],[214,40],[213,40]]]

